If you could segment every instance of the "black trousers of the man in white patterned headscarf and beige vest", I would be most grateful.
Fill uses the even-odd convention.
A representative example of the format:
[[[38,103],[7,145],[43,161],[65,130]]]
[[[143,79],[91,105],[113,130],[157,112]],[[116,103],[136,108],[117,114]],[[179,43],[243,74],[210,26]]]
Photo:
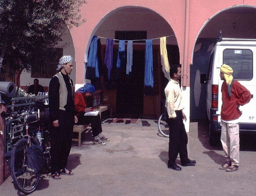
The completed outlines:
[[[68,155],[72,144],[74,112],[59,110],[59,127],[51,125],[51,171],[58,172],[67,167]]]

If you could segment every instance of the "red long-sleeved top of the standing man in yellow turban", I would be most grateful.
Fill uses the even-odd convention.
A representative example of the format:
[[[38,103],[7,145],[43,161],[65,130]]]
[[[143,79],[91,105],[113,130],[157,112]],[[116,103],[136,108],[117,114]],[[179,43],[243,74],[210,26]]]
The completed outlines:
[[[251,100],[251,93],[236,80],[232,84],[231,97],[227,92],[226,81],[223,81],[222,83],[221,93],[221,119],[226,121],[238,119],[242,115],[238,106],[243,106],[244,104],[248,103]]]

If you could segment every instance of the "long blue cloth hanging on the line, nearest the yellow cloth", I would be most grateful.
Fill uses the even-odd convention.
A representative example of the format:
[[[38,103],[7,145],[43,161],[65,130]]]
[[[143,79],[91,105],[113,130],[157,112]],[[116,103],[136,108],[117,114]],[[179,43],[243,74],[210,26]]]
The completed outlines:
[[[144,80],[145,95],[153,94],[154,76],[153,76],[153,50],[152,40],[146,40],[146,52],[145,52],[145,80]],[[149,87],[149,88],[148,88]]]

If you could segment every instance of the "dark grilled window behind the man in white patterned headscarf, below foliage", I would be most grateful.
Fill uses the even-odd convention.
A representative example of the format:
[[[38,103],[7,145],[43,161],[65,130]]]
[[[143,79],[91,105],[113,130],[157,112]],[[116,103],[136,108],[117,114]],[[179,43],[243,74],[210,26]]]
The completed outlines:
[[[31,77],[36,78],[51,78],[56,74],[56,68],[59,63],[59,59],[63,55],[63,48],[56,48],[55,54],[40,67],[31,68]]]

